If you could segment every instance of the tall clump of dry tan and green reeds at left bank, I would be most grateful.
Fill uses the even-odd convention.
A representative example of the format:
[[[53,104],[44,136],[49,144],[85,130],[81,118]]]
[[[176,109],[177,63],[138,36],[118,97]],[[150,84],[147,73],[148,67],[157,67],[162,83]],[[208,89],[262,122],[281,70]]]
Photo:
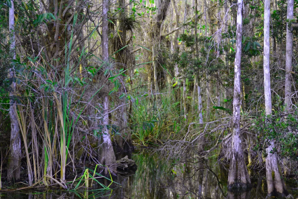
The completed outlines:
[[[77,17],[78,13],[75,13],[71,36],[69,40],[65,39],[64,59],[47,60],[46,51],[42,48],[35,58],[14,60],[21,68],[16,74],[18,92],[23,93],[18,98],[17,112],[27,159],[29,186],[72,186],[66,183],[66,170],[72,167],[69,170],[77,173],[75,145],[83,141],[89,144],[88,151],[85,149],[86,156],[88,154],[91,161],[98,163],[96,150],[93,149],[97,145],[91,144],[97,137],[89,132],[99,129],[97,121],[103,118],[100,105],[103,85],[98,87],[94,84],[96,75],[103,73],[103,63],[94,56],[97,61],[91,60],[83,68],[81,63],[86,59],[84,47],[73,49],[73,42],[77,40],[74,39]],[[63,66],[63,71],[57,65],[60,68]],[[84,173],[79,180],[83,178],[85,186],[88,186],[88,179],[98,183],[94,175],[90,177]]]

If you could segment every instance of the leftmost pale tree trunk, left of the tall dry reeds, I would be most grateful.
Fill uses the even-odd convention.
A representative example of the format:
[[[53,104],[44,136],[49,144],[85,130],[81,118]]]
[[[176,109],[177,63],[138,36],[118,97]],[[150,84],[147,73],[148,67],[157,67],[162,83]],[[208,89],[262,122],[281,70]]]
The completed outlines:
[[[14,3],[11,1],[11,8],[9,8],[9,31],[10,31],[10,53],[13,54],[13,59],[15,59],[15,32],[14,32]],[[9,72],[9,78],[14,78],[14,67]],[[12,91],[10,92],[10,97],[15,97],[16,95],[16,83],[13,81],[11,84]],[[18,115],[16,102],[10,99],[10,151],[9,160],[7,165],[7,181],[19,180],[20,179],[20,166],[21,166],[21,137],[19,133],[18,125]]]

